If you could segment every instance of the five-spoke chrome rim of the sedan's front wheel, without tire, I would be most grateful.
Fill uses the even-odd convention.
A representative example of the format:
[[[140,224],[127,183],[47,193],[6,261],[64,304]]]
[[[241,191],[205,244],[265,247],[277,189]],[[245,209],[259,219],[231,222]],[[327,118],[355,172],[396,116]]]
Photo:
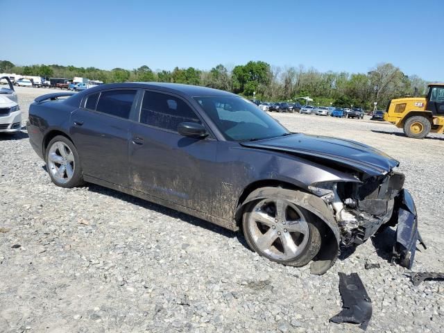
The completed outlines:
[[[260,200],[248,216],[247,227],[255,246],[272,259],[295,259],[307,247],[308,223],[287,200]]]

